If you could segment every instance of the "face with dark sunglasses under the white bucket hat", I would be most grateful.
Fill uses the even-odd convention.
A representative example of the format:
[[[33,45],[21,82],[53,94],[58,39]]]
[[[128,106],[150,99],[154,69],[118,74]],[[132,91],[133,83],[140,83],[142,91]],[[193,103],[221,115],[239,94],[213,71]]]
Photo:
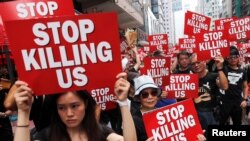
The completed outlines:
[[[157,103],[157,90],[154,88],[146,88],[140,93],[140,101],[143,108],[153,109]]]

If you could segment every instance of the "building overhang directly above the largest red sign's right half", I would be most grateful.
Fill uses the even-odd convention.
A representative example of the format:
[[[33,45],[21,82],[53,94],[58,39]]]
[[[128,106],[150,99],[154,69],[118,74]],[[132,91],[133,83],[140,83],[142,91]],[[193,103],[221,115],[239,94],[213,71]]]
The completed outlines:
[[[143,26],[140,0],[73,0],[74,7],[81,13],[116,12],[119,28]]]

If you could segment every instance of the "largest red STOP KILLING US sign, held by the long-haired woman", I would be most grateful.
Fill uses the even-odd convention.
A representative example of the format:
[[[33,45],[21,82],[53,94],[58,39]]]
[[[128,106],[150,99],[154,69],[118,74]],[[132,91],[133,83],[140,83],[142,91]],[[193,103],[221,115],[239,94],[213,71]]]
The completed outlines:
[[[113,93],[122,71],[117,20],[106,13],[5,22],[19,79],[37,95],[76,89],[96,90],[92,96]]]

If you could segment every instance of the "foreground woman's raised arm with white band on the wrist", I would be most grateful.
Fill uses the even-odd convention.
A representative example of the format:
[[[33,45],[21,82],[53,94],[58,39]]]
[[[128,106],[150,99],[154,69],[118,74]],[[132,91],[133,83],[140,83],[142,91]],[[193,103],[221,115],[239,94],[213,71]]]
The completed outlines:
[[[126,73],[117,75],[118,80],[115,83],[114,91],[121,108],[124,141],[136,141],[135,125],[127,102],[130,83],[126,80],[126,77]]]

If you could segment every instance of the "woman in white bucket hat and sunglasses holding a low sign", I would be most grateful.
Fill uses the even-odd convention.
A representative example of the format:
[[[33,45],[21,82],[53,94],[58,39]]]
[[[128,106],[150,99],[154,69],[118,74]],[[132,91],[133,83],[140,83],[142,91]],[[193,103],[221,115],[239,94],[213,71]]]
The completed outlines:
[[[142,75],[134,79],[135,100],[139,101],[141,106],[135,111],[131,111],[136,128],[138,141],[153,141],[153,137],[148,137],[142,115],[155,109],[155,105],[162,94],[162,90],[154,83],[152,77]],[[199,141],[205,140],[204,135],[197,135]]]

